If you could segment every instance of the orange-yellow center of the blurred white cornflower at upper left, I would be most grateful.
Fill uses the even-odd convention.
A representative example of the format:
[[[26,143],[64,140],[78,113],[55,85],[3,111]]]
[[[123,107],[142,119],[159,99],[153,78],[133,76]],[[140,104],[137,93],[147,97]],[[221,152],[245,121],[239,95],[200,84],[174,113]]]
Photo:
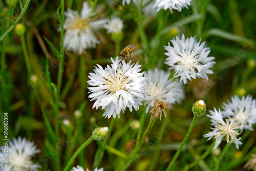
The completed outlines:
[[[68,22],[68,25],[70,26],[70,30],[75,30],[78,29],[79,32],[81,32],[85,28],[90,28],[91,26],[89,25],[89,18],[82,19],[80,16],[75,18],[72,21]]]

